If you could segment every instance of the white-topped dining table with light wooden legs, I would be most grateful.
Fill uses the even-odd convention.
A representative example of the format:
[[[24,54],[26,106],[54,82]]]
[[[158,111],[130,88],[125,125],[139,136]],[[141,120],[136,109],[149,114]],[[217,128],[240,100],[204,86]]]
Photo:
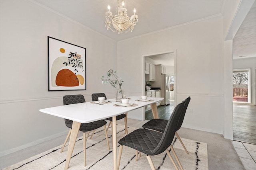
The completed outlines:
[[[138,96],[132,96],[128,98],[130,98],[129,103],[134,104],[133,106],[117,107],[116,104],[120,103],[116,102],[115,99],[109,99],[106,101],[110,102],[103,105],[95,104],[92,102],[85,102],[79,104],[50,107],[39,110],[42,113],[47,113],[50,115],[62,117],[64,119],[69,119],[73,121],[70,141],[68,145],[67,158],[64,167],[65,170],[68,169],[81,123],[90,123],[108,117],[112,117],[113,163],[114,170],[117,170],[116,116],[122,113],[127,113],[128,111],[138,109],[140,107],[151,105],[153,116],[155,119],[158,119],[156,102],[159,102],[164,99],[148,97],[147,99],[150,101],[138,101]]]

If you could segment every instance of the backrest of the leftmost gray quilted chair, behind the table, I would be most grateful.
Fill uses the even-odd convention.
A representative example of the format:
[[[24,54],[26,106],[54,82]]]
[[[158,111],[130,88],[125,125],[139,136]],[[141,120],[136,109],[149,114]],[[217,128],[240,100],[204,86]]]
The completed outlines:
[[[82,94],[63,96],[63,105],[77,104],[77,103],[84,103],[84,102],[85,102],[85,99]],[[71,128],[73,121],[65,119],[65,124],[67,127]]]

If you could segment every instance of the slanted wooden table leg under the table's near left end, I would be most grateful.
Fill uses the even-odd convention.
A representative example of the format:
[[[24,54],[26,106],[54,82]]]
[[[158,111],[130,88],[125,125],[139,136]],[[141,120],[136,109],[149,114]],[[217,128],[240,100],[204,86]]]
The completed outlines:
[[[73,150],[74,150],[74,146],[75,146],[75,143],[76,143],[76,138],[77,138],[77,135],[78,135],[78,131],[80,129],[80,125],[81,125],[81,123],[73,121],[70,140],[69,140],[69,144],[68,144],[68,153],[67,153],[67,158],[66,158],[66,163],[65,163],[64,170],[68,169],[69,162],[70,162],[70,159],[71,159],[71,156],[72,156],[72,153],[73,153]]]

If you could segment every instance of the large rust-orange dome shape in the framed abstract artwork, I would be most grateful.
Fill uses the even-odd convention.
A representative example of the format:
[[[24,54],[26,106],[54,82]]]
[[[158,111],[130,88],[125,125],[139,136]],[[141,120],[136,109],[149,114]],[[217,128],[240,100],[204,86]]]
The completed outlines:
[[[60,70],[56,76],[56,85],[65,87],[79,86],[78,78],[76,74],[68,69]]]

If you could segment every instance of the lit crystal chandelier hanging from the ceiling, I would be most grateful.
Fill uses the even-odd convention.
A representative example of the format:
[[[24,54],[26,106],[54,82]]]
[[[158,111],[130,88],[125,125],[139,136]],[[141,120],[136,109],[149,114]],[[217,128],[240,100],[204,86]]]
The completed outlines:
[[[133,15],[130,17],[127,16],[127,10],[124,6],[124,1],[122,2],[122,6],[120,6],[120,1],[117,0],[116,4],[116,15],[112,16],[112,12],[110,12],[110,6],[108,5],[108,12],[106,12],[106,21],[105,21],[105,27],[107,27],[107,30],[110,29],[113,32],[120,33],[127,33],[128,31],[134,29],[134,26],[138,22],[138,16],[135,15],[135,8],[133,10]],[[114,26],[115,30],[111,28],[111,25]],[[125,31],[126,30],[126,31]]]

